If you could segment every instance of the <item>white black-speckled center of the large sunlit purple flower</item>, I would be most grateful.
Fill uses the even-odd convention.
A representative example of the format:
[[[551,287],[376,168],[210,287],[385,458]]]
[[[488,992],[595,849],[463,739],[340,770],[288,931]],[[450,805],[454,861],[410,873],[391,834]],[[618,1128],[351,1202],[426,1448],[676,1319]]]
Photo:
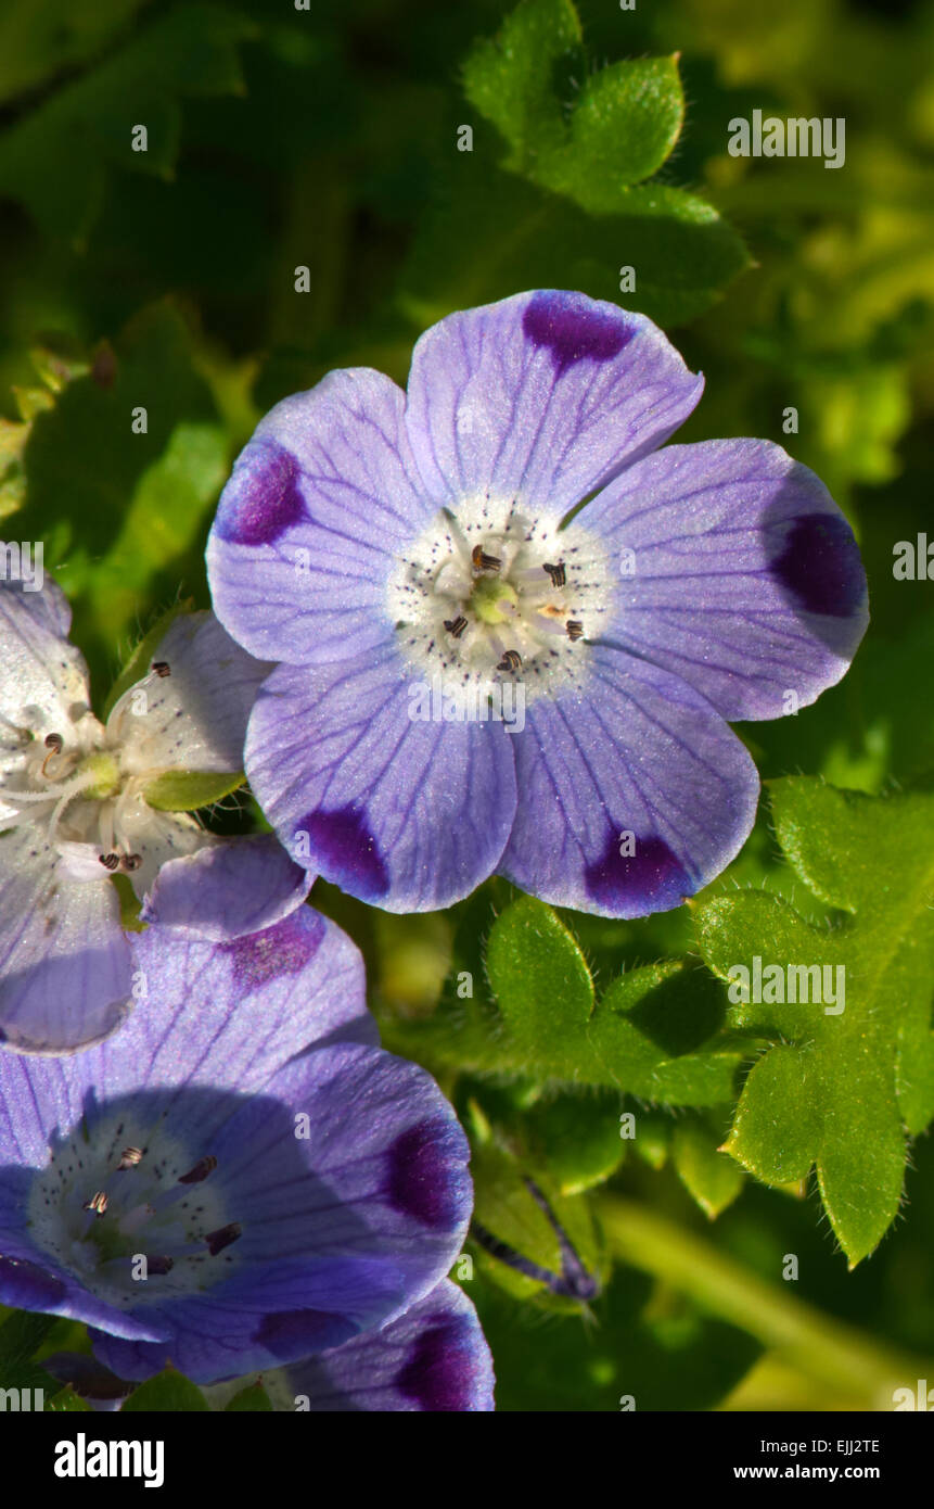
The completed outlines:
[[[602,543],[518,499],[439,513],[400,560],[388,608],[413,670],[454,682],[516,681],[527,700],[581,679],[610,614]]]

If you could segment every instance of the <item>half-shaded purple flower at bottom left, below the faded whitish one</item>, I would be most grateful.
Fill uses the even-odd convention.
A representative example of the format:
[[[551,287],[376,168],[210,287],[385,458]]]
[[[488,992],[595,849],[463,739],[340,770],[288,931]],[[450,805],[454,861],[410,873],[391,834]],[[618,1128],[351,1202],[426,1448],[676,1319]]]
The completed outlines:
[[[379,1047],[356,948],[299,907],[133,949],[146,1000],[119,1032],[0,1055],[0,1304],[86,1322],[119,1378],[172,1361],[198,1382],[398,1320],[460,1249],[468,1145],[429,1074]],[[480,1367],[475,1328],[451,1345]],[[397,1363],[404,1391],[401,1343]]]

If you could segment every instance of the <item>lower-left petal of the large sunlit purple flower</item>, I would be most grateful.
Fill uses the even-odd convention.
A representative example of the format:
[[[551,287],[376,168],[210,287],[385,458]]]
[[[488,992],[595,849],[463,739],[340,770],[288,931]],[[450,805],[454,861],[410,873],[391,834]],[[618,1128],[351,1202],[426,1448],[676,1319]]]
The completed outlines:
[[[513,735],[422,721],[416,687],[392,650],[281,665],[247,735],[250,785],[290,854],[388,911],[466,896],[496,868],[516,804]]]

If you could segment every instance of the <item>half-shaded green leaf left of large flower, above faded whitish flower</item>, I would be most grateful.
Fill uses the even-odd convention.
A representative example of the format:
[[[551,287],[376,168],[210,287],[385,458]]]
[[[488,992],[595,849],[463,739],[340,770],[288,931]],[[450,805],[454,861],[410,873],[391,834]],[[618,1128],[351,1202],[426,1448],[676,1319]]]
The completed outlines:
[[[26,502],[17,527],[45,539],[75,598],[74,638],[110,664],[142,611],[180,578],[204,576],[201,531],[225,480],[229,439],[198,370],[178,309],[143,309],[115,343],[115,368],[94,373],[39,413],[24,450]],[[146,430],[134,432],[145,407]]]

